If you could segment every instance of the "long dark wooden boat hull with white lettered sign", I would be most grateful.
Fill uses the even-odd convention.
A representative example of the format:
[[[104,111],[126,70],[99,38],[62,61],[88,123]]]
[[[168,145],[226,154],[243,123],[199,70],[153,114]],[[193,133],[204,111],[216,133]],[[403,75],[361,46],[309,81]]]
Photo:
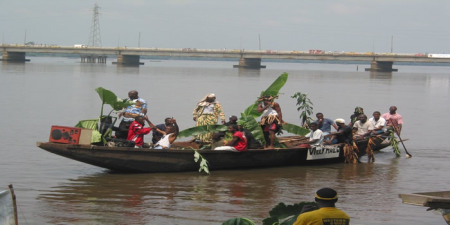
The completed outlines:
[[[366,141],[358,142],[359,156],[365,154]],[[65,144],[37,142],[46,151],[91,165],[119,172],[182,172],[196,171],[194,149],[208,161],[209,170],[275,167],[343,163],[342,145],[327,145],[323,148],[287,147],[275,149],[248,149],[233,152],[224,150],[202,150],[198,144],[176,141],[173,148],[151,149],[133,147],[110,147],[90,144]],[[378,143],[373,150],[388,146]]]

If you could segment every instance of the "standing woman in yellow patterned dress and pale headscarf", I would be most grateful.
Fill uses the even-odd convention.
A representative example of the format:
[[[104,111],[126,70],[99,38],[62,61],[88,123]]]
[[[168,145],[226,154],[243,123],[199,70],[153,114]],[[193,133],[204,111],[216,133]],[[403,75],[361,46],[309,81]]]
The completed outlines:
[[[215,100],[215,94],[208,93],[200,101],[197,102],[193,112],[193,120],[196,126],[216,124],[218,117],[220,117],[221,123],[225,123],[225,113],[222,106]],[[198,134],[194,136],[194,139],[199,139],[203,142],[211,141],[211,133]]]

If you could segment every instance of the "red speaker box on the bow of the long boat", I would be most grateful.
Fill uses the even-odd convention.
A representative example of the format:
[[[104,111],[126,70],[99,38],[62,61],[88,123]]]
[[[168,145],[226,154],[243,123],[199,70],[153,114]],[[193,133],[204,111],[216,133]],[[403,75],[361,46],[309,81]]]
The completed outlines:
[[[91,137],[91,129],[52,125],[48,141],[68,144],[90,144]]]

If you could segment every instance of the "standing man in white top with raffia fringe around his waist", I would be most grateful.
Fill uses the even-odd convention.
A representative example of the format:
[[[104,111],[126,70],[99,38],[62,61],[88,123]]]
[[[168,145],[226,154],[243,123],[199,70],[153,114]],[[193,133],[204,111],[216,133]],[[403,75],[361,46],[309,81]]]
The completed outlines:
[[[258,104],[257,112],[262,112],[260,125],[265,139],[266,149],[274,148],[275,132],[278,132],[283,121],[281,114],[281,107],[275,101],[278,96],[265,95],[261,96],[258,100],[262,101]]]

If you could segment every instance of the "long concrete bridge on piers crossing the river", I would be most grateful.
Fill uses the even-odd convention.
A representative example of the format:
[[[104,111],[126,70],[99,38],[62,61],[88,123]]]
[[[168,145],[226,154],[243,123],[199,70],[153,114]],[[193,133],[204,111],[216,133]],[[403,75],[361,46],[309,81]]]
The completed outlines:
[[[216,57],[236,58],[238,64],[233,67],[265,68],[261,59],[293,59],[293,60],[340,60],[340,61],[370,61],[370,71],[396,71],[393,62],[410,63],[450,63],[450,54],[400,54],[374,52],[324,52],[324,51],[273,51],[273,50],[237,50],[237,49],[196,49],[196,48],[136,48],[136,47],[85,47],[75,46],[38,46],[1,44],[1,60],[27,61],[26,52],[77,54],[81,62],[106,62],[106,55],[116,55],[114,64],[139,65],[141,55],[148,56],[178,56],[178,57]]]

